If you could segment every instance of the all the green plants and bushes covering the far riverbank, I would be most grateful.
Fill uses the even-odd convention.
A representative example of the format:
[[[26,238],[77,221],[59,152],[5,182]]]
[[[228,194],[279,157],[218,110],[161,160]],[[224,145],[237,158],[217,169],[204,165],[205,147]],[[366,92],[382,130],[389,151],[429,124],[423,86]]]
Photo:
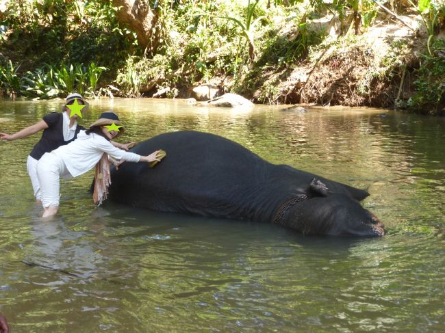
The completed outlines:
[[[218,79],[225,81],[228,90],[245,95],[256,91],[258,101],[277,103],[281,94],[277,86],[292,69],[305,60],[318,62],[318,57],[311,58],[311,54],[325,36],[315,31],[316,20],[335,16],[340,19],[343,35],[360,39],[360,28],[371,25],[379,10],[375,1],[150,0],[146,3],[158,19],[153,27],[157,38],[154,42],[160,45],[155,54],[142,50],[135,31],[118,22],[118,9],[112,1],[10,1],[0,20],[0,52],[12,62],[1,64],[0,88],[18,94],[23,91],[31,98],[51,98],[72,91],[97,96],[101,79],[115,82],[124,96],[141,96],[156,88],[170,88],[169,94],[175,96],[177,89],[183,92],[197,82]],[[445,9],[440,4],[416,1],[431,36],[444,22]],[[432,42],[433,38],[429,45]],[[3,47],[5,44],[8,47]],[[348,49],[352,42],[345,44]],[[5,53],[11,45],[16,49]],[[321,49],[327,47],[320,44]],[[398,49],[393,51],[397,53]],[[368,94],[372,83],[390,78],[397,72],[394,68],[403,66],[394,61],[401,57],[393,51],[388,51],[381,64],[370,68],[364,80],[357,83],[359,94]],[[12,64],[24,55],[18,71]],[[370,54],[364,59],[376,56]],[[431,49],[422,64],[438,72],[439,62]],[[108,68],[106,72],[103,66]],[[419,96],[420,91],[427,90],[422,82],[431,79],[423,70],[427,69],[419,70],[420,81],[416,83]],[[440,87],[437,85],[437,96]],[[415,97],[412,105],[433,103],[427,99]]]

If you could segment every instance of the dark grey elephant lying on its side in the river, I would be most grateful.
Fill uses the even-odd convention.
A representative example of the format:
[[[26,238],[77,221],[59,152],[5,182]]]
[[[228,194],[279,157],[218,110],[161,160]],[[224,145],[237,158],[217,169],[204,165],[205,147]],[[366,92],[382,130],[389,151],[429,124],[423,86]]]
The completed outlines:
[[[194,131],[165,133],[131,151],[167,157],[155,168],[112,169],[109,198],[133,207],[288,226],[306,235],[383,235],[358,203],[368,192],[268,163],[229,139]]]

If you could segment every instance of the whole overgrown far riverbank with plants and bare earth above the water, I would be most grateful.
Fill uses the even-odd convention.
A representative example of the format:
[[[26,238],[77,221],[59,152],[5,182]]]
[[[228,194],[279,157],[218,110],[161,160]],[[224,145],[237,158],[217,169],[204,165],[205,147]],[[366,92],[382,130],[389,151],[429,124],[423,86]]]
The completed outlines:
[[[10,3],[0,8],[0,90],[188,98],[206,85],[212,96],[236,92],[254,103],[444,114],[445,5],[427,2],[164,4],[145,9],[159,20],[145,49],[143,31],[119,21],[118,8]]]

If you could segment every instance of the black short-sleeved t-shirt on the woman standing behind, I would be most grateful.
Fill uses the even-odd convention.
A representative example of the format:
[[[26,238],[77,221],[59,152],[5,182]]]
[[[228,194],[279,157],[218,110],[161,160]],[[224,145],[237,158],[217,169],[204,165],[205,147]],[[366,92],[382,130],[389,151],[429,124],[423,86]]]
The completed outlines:
[[[77,124],[77,128],[73,139],[69,141],[64,140],[64,115],[58,112],[51,112],[51,114],[46,114],[43,116],[44,122],[49,126],[47,129],[43,130],[42,137],[40,137],[39,142],[34,146],[33,150],[29,154],[34,159],[39,160],[45,152],[51,152],[64,144],[69,144],[77,138],[77,134],[82,129],[82,126]]]

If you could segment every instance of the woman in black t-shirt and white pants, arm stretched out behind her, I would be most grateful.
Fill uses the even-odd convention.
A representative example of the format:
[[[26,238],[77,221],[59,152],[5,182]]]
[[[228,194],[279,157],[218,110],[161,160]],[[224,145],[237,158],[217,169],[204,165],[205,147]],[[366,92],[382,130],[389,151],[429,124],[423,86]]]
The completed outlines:
[[[88,109],[88,103],[84,98],[77,93],[69,94],[66,97],[62,113],[51,112],[51,114],[46,114],[43,119],[34,125],[31,125],[17,133],[12,135],[6,133],[0,133],[0,139],[6,139],[8,141],[13,141],[16,139],[23,139],[29,135],[35,134],[37,132],[43,131],[42,137],[40,137],[39,142],[34,146],[33,150],[28,156],[26,167],[31,178],[32,188],[34,189],[34,196],[37,201],[40,201],[40,184],[38,183],[37,177],[37,162],[44,155],[45,152],[50,152],[60,146],[69,144],[74,139],[76,139],[79,132],[85,129],[82,126],[77,125],[77,114],[71,116],[71,109],[68,105],[73,105],[77,100],[77,104],[86,105],[80,111],[83,114],[86,109]],[[113,143],[114,146],[128,150],[133,146],[134,142],[129,144],[118,144]]]

